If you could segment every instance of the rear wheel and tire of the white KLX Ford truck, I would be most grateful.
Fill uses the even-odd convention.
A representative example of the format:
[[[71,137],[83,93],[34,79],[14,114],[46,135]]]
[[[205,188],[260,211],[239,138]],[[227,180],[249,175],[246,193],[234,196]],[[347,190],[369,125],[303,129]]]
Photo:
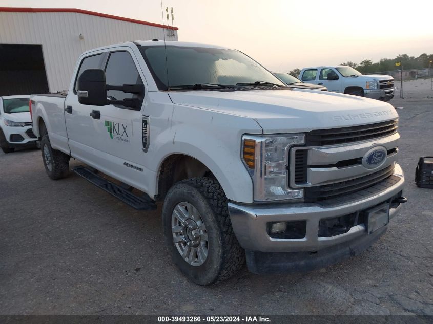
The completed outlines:
[[[69,175],[69,155],[53,149],[48,134],[45,134],[40,140],[40,150],[48,177],[58,180]]]

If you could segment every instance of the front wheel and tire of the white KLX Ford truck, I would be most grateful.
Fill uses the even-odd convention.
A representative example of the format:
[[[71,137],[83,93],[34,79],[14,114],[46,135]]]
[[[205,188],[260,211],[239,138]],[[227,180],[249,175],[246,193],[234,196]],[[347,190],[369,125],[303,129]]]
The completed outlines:
[[[164,236],[173,262],[196,284],[228,279],[244,264],[227,204],[219,183],[207,177],[180,181],[167,193]]]

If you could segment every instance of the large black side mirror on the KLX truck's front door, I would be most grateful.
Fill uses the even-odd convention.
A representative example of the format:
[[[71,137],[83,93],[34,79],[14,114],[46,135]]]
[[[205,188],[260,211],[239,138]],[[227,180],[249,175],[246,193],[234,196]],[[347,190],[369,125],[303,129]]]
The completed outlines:
[[[107,85],[105,72],[102,69],[86,69],[77,80],[78,102],[93,106],[105,106],[107,100]]]

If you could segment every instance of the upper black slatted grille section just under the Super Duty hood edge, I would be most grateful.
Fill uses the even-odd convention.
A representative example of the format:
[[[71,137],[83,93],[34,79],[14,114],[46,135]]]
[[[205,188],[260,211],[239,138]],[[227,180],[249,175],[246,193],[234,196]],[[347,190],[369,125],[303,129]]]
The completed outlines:
[[[395,119],[361,126],[319,129],[306,134],[306,145],[322,146],[375,139],[395,134],[397,128],[398,121]]]

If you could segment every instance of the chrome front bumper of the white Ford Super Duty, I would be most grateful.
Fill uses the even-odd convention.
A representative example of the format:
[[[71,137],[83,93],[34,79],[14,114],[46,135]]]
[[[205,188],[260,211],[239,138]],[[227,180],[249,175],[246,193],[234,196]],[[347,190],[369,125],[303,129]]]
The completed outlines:
[[[347,233],[318,237],[321,219],[339,217],[356,211],[366,210],[388,199],[393,198],[403,189],[404,174],[396,164],[394,175],[400,180],[391,187],[360,200],[347,204],[324,207],[317,203],[293,204],[254,204],[240,205],[229,203],[229,213],[233,230],[242,248],[260,252],[300,252],[317,251],[327,247],[367,236],[366,227],[360,224],[352,227]],[[393,218],[400,205],[391,206],[389,218]],[[302,239],[275,239],[267,233],[268,222],[306,221],[306,235]]]

